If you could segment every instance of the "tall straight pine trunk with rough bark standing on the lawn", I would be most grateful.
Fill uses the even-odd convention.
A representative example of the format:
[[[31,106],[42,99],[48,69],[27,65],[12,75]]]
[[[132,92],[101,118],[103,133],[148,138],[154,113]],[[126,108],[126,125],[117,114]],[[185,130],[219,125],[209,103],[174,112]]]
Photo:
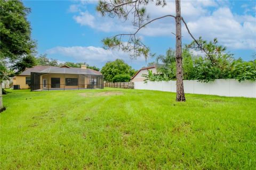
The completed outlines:
[[[183,69],[182,69],[182,46],[181,46],[181,10],[180,0],[175,0],[176,4],[176,101],[186,101],[183,87]]]

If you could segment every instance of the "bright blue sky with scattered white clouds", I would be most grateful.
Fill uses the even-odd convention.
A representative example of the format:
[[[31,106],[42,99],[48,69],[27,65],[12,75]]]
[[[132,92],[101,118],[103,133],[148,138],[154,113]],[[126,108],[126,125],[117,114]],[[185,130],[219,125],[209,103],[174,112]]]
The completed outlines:
[[[102,67],[116,58],[125,60],[134,69],[147,65],[144,58],[130,60],[117,50],[105,50],[101,40],[117,33],[133,32],[131,21],[102,17],[95,11],[97,1],[23,1],[31,8],[28,20],[37,41],[38,54],[47,54],[60,62],[86,62]],[[174,14],[174,1],[164,8],[154,3],[147,6],[150,19]],[[226,46],[235,57],[252,60],[256,49],[256,1],[181,1],[181,13],[195,37]],[[172,18],[157,21],[140,31],[143,42],[152,53],[165,54],[175,48],[175,25]],[[183,44],[191,38],[182,28]],[[153,61],[154,58],[148,60]]]

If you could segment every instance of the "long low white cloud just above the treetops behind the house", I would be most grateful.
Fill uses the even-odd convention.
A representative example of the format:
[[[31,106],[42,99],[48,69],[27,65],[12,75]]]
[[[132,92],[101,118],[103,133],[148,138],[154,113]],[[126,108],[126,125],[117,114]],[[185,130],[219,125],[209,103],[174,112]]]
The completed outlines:
[[[86,62],[91,65],[99,63],[106,63],[107,61],[114,61],[117,58],[126,62],[131,61],[130,56],[119,50],[103,49],[101,47],[54,47],[46,50],[47,54],[63,56],[62,60],[74,60],[76,62]],[[137,62],[144,62],[144,58],[140,57]]]

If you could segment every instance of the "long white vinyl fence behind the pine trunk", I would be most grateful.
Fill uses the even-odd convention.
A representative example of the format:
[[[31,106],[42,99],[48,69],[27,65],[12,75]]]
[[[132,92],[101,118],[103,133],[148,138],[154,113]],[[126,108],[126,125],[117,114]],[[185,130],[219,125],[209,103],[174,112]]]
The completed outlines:
[[[256,81],[238,82],[235,79],[217,79],[207,83],[184,80],[183,83],[185,93],[188,94],[256,98]],[[134,89],[176,92],[176,81],[134,82]]]

